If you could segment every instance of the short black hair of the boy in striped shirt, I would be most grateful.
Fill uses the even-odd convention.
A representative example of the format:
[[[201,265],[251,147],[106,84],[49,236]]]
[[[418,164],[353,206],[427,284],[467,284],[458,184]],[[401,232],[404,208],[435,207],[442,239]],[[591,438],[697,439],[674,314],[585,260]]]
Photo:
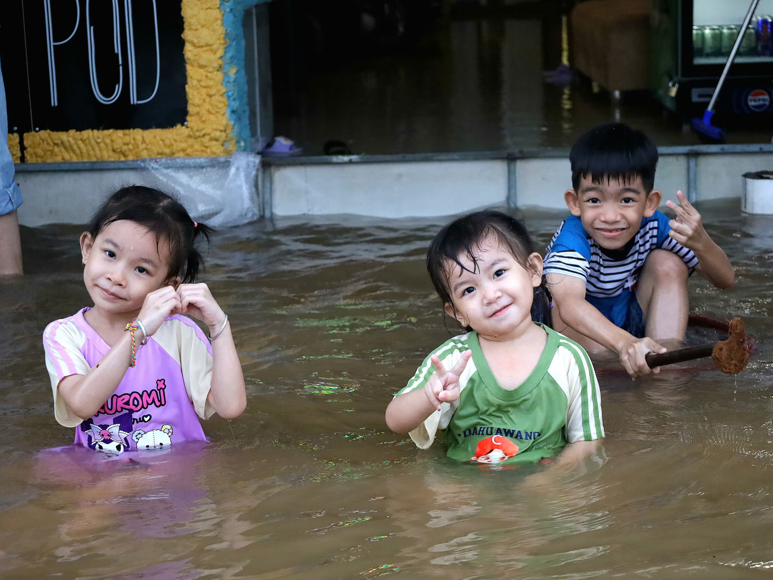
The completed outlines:
[[[580,187],[583,178],[593,183],[619,179],[631,183],[642,178],[645,193],[655,186],[658,148],[642,131],[623,123],[607,123],[586,131],[572,145],[569,153],[572,187]]]

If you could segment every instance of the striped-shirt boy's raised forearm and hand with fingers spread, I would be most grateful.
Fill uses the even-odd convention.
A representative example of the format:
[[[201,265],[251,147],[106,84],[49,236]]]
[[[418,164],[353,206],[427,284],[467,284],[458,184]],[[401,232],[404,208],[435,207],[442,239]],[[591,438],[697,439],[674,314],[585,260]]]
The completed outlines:
[[[700,213],[693,204],[687,201],[681,191],[676,192],[676,197],[681,206],[671,200],[666,201],[669,210],[676,213],[676,219],[669,222],[669,236],[693,251],[698,258],[698,265],[695,267],[698,274],[720,290],[730,288],[735,281],[735,270],[727,255],[703,228]]]

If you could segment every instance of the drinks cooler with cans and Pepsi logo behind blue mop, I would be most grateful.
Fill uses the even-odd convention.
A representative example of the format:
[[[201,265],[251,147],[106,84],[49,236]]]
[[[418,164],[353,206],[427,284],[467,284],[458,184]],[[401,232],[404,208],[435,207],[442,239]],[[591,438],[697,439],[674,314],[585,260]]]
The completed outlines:
[[[655,0],[652,89],[683,120],[703,116],[744,22],[745,0]],[[773,0],[760,0],[715,105],[719,126],[773,125]]]

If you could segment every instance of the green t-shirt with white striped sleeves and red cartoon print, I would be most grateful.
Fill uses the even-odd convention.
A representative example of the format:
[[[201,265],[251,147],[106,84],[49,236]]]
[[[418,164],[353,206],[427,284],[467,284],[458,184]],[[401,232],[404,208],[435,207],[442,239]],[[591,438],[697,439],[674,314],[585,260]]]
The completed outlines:
[[[540,325],[541,326],[541,325]],[[567,442],[604,437],[601,395],[587,353],[573,340],[543,326],[547,344],[532,374],[512,391],[497,384],[475,332],[455,336],[435,349],[447,369],[467,350],[472,358],[461,374],[458,401],[443,403],[410,437],[426,449],[438,429],[448,456],[460,461],[538,461]],[[424,360],[398,394],[424,387],[434,373]]]

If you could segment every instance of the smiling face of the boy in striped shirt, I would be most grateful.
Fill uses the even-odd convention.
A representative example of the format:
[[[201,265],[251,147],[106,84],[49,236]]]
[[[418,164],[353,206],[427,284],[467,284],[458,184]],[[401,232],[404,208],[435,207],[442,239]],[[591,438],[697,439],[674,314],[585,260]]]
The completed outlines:
[[[580,217],[585,231],[607,250],[628,244],[642,217],[652,217],[658,209],[660,197],[656,189],[646,193],[638,176],[628,183],[620,179],[593,183],[590,177],[584,177],[577,191],[567,189],[564,193],[572,215]]]

